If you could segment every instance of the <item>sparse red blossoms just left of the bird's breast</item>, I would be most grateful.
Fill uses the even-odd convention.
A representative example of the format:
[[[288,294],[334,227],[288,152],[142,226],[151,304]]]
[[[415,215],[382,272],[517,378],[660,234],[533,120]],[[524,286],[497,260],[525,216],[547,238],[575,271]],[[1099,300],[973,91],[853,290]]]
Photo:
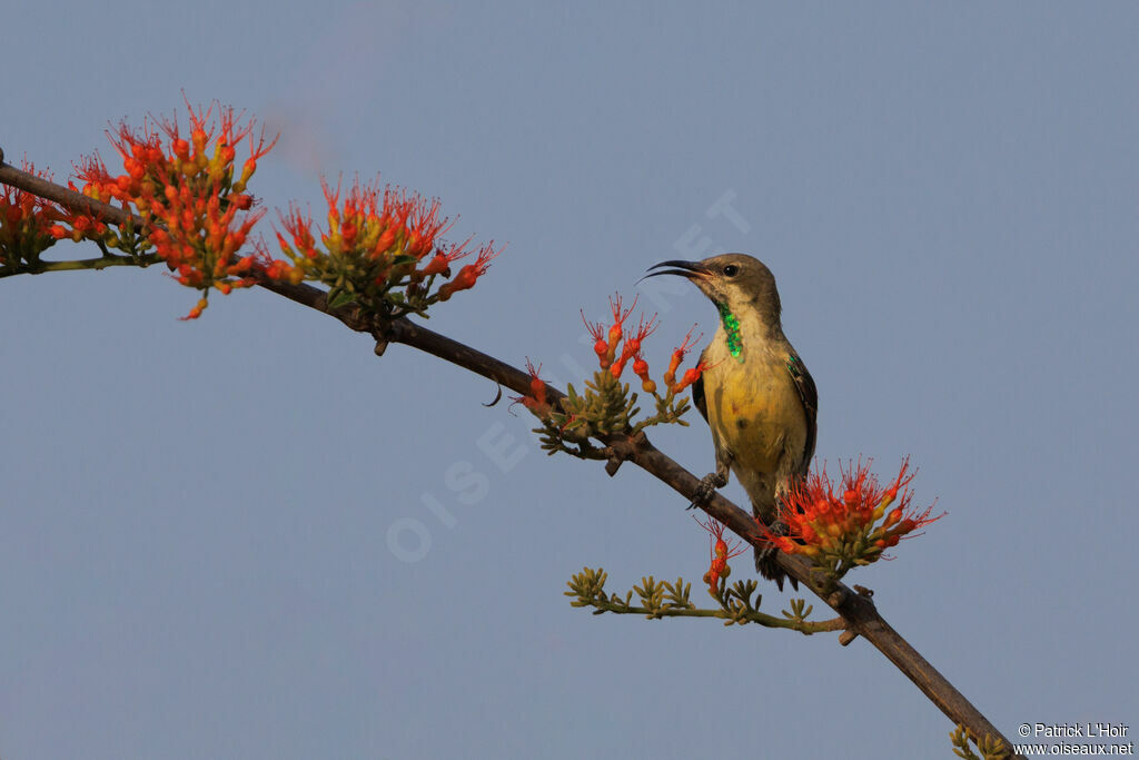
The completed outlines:
[[[624,326],[625,321],[633,309],[637,308],[637,299],[633,299],[632,305],[623,309],[621,296],[615,295],[609,299],[609,308],[613,311],[613,325],[608,328],[606,328],[605,322],[595,324],[585,319],[585,314],[582,313],[585,329],[593,337],[593,352],[597,353],[598,363],[601,369],[609,370],[615,379],[620,379],[631,359],[633,362],[633,374],[640,378],[641,389],[646,393],[655,394],[657,385],[649,377],[648,362],[641,356],[641,343],[656,330],[656,314],[653,314],[648,321],[645,321],[645,317],[641,316],[636,328],[626,328]],[[691,338],[693,332],[689,330],[688,335],[685,336],[685,342],[672,352],[669,370],[664,374],[664,386],[669,395],[675,395],[683,391],[695,383],[704,370],[707,369],[707,365],[700,361],[695,367],[687,369],[681,379],[677,381],[677,370],[685,360],[685,356],[691,350]]]

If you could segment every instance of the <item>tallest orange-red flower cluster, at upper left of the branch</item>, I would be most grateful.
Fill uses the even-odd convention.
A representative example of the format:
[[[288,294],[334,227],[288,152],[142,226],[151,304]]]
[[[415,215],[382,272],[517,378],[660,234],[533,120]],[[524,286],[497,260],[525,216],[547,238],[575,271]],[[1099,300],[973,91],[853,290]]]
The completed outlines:
[[[179,283],[203,293],[211,287],[229,293],[254,283],[259,262],[237,253],[264,211],[251,211],[253,196],[245,189],[257,161],[276,139],[267,145],[263,130],[254,138],[254,121],[237,125],[240,115],[235,116],[232,108],[216,106],[219,116],[213,120],[215,106],[189,107],[189,139],[181,136],[177,121],[162,120],[161,129],[149,120],[140,130],[120,124],[110,141],[122,157],[124,173],[112,175],[93,156],[83,161],[76,175],[84,182],[84,195],[106,203],[117,201],[150,223],[149,242]],[[235,180],[235,145],[246,137],[249,157]],[[110,236],[105,242],[118,245],[118,238],[98,220],[79,215],[69,221],[71,230],[59,224],[51,234],[73,239]],[[205,305],[203,297],[187,319],[196,318]]]

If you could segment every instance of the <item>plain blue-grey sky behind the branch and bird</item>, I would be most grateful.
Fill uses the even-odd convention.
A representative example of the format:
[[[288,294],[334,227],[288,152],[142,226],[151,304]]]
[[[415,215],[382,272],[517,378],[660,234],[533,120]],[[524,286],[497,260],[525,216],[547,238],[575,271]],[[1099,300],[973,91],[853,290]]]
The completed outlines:
[[[5,27],[9,161],[63,179],[182,90],[246,108],[282,133],[269,207],[319,216],[321,173],[380,172],[508,242],[431,327],[559,383],[591,361],[579,309],[649,264],[763,259],[820,459],[910,456],[949,512],[849,580],[1006,734],[1139,720],[1133,3],[62,2]],[[157,269],[0,294],[5,758],[950,757],[862,640],[572,608],[582,565],[698,585],[706,537],[634,467],[547,458],[482,378],[268,293],[179,322],[196,295]],[[695,291],[652,309],[657,366],[715,326]],[[703,474],[693,422],[653,438]]]

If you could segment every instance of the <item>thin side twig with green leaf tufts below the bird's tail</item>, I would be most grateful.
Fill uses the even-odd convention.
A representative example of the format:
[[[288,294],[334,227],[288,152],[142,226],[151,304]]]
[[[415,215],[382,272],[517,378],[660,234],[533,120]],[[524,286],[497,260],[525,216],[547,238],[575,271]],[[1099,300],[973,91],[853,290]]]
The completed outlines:
[[[645,615],[649,620],[662,620],[664,618],[718,618],[723,620],[724,626],[743,626],[745,623],[759,623],[767,628],[787,628],[797,630],[804,635],[818,634],[821,631],[841,630],[843,628],[836,621],[809,621],[806,615],[811,608],[805,606],[803,599],[792,602],[792,612],[784,611],[782,618],[776,618],[760,612],[762,596],[755,593],[757,583],[755,580],[736,581],[730,587],[723,578],[713,591],[708,589],[712,597],[720,603],[719,608],[705,610],[697,607],[691,598],[693,585],[686,582],[683,578],[678,578],[675,582],[658,581],[652,575],[641,578],[640,585],[622,596],[620,594],[608,594],[605,590],[605,581],[608,574],[598,567],[583,567],[580,573],[570,579],[570,590],[565,595],[571,597],[570,604],[574,607],[593,607],[593,614],[599,615],[605,612],[616,614]],[[633,600],[633,596],[637,600]]]

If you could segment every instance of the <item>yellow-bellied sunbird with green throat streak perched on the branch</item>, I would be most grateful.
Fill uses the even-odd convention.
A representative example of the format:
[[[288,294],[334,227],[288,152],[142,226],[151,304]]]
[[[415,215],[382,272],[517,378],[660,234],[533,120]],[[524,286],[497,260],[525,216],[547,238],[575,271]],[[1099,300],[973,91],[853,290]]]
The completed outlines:
[[[688,278],[720,311],[720,327],[700,354],[708,369],[693,384],[693,403],[712,428],[716,465],[702,481],[697,502],[726,485],[731,468],[752,512],[782,529],[779,499],[811,464],[819,398],[814,379],[784,336],[776,278],[763,262],[741,253],[663,261],[649,271],[648,277]],[[785,575],[775,551],[756,548],[755,569],[782,590]]]

